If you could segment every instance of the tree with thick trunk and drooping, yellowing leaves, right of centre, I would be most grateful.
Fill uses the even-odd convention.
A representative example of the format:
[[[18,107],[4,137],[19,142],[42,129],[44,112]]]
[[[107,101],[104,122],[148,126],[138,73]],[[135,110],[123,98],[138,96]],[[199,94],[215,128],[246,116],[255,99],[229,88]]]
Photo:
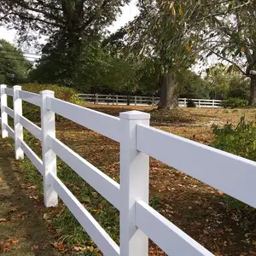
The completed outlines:
[[[160,88],[159,108],[177,108],[177,74],[195,63],[201,5],[187,0],[139,1],[138,6],[140,15],[109,42],[146,60],[148,76],[153,74]]]

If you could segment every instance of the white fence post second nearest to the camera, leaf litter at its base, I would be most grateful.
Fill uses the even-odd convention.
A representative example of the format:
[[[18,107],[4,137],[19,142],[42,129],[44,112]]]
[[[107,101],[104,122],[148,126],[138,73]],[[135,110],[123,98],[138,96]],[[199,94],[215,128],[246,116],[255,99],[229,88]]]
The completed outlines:
[[[55,137],[55,113],[47,108],[47,97],[54,97],[52,90],[40,92],[42,99],[41,106],[41,129],[42,129],[42,154],[44,172],[44,205],[55,207],[58,204],[58,195],[49,184],[49,172],[56,175],[56,154],[49,149],[48,136]]]

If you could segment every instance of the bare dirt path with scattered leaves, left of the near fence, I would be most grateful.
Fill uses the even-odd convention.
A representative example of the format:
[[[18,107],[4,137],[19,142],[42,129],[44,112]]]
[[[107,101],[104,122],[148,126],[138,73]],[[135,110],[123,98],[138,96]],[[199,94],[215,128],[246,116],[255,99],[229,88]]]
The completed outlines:
[[[0,253],[61,255],[51,245],[54,237],[44,223],[44,213],[22,188],[22,175],[13,161],[13,150],[0,138]]]

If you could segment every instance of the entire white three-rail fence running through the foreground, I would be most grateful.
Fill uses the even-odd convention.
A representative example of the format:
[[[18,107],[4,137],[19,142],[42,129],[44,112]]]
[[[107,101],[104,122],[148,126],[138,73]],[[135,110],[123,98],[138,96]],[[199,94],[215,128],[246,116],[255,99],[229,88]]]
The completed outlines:
[[[56,206],[59,195],[104,255],[147,256],[148,237],[168,255],[213,255],[148,206],[149,156],[256,207],[252,160],[154,129],[148,113],[131,111],[116,118],[55,99],[50,90],[38,95],[20,86],[2,84],[0,89],[2,137],[13,137],[15,158],[26,154],[43,175],[45,206]],[[13,96],[14,109],[7,106],[7,96]],[[41,128],[22,116],[22,101],[41,108]],[[119,142],[120,184],[55,137],[55,113]],[[14,118],[14,130],[8,115]],[[42,142],[43,160],[24,142],[23,127]],[[120,247],[57,177],[56,155],[119,210]]]

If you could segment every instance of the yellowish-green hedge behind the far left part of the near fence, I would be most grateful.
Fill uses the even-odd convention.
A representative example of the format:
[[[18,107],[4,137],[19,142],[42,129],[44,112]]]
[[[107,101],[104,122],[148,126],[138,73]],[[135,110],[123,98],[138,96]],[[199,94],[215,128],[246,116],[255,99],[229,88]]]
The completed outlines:
[[[21,84],[22,90],[30,91],[39,94],[42,90],[54,90],[55,97],[66,102],[80,104],[78,93],[72,88],[59,86],[57,84]],[[13,108],[12,97],[8,97],[8,106]],[[28,102],[22,103],[23,115],[34,122],[40,121],[40,108]],[[63,118],[56,115],[56,120],[59,121]]]

